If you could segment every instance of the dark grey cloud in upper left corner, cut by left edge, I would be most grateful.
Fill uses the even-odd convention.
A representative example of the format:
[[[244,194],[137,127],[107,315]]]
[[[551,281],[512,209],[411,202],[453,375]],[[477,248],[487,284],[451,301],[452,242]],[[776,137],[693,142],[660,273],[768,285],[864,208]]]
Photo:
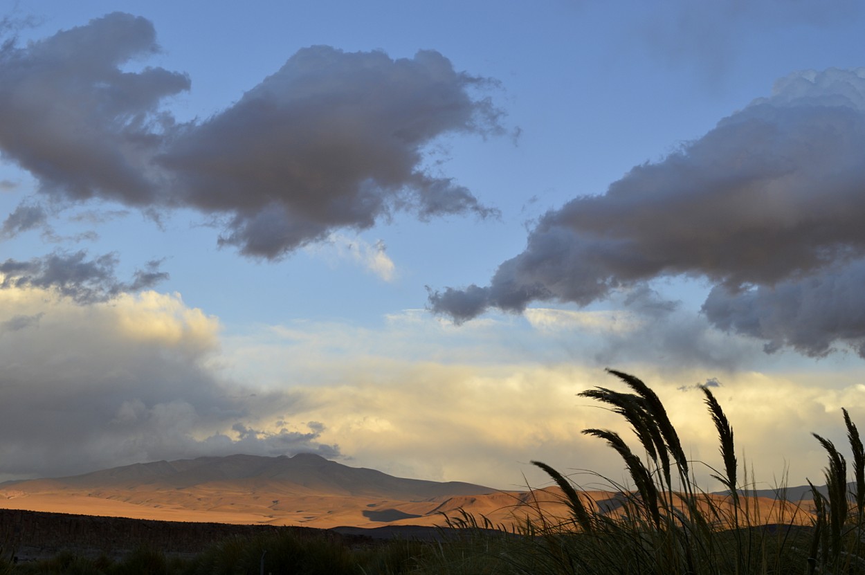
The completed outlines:
[[[148,205],[161,191],[149,167],[171,120],[159,112],[189,78],[121,69],[158,51],[151,22],[113,13],[0,53],[0,148],[70,200]]]

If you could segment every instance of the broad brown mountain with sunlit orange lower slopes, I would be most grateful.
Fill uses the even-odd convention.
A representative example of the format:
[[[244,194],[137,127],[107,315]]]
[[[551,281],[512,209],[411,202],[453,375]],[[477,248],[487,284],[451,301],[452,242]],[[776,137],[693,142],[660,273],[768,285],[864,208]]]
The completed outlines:
[[[443,522],[453,498],[496,489],[355,468],[314,454],[198,457],[6,482],[0,508],[169,521],[381,527]],[[484,504],[484,508],[489,507]]]

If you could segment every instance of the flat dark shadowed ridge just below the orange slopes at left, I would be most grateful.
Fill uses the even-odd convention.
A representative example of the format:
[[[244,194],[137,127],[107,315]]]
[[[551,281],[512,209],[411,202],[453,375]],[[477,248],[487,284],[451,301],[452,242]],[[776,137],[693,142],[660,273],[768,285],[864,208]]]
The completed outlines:
[[[251,538],[286,531],[301,537],[345,540],[349,544],[374,543],[394,537],[430,540],[439,533],[435,527],[316,529],[0,509],[0,553],[5,558],[15,556],[21,561],[47,559],[64,550],[86,557],[121,557],[141,546],[170,555],[192,556],[227,538]]]

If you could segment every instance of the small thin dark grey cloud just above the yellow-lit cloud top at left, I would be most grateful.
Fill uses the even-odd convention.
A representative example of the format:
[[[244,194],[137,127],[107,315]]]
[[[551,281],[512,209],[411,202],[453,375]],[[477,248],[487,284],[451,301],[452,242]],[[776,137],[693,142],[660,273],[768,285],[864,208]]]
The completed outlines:
[[[144,270],[135,272],[130,282],[123,282],[115,274],[118,263],[114,253],[87,259],[83,250],[54,252],[26,261],[7,259],[0,263],[0,289],[54,289],[78,303],[96,303],[120,293],[152,288],[168,278],[166,272],[159,271],[161,261],[151,261]]]

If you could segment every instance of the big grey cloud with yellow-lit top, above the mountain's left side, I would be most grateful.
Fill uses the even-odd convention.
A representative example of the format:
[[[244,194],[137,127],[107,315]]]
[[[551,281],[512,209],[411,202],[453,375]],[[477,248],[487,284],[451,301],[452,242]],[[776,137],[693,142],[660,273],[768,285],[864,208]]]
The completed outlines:
[[[318,440],[322,425],[276,425],[272,406],[291,407],[291,392],[274,401],[221,377],[220,329],[176,294],[80,305],[42,288],[0,291],[0,476],[238,452],[338,457]],[[254,431],[261,421],[269,428]]]

